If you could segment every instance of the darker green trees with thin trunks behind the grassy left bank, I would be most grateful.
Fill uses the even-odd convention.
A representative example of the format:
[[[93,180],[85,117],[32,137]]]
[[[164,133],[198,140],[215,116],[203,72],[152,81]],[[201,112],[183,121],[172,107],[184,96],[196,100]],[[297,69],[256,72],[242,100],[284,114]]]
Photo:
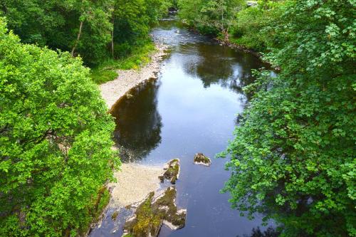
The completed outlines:
[[[70,51],[95,66],[121,58],[125,54],[121,45],[147,41],[150,26],[172,4],[169,0],[4,0],[0,16],[6,16],[23,43]]]

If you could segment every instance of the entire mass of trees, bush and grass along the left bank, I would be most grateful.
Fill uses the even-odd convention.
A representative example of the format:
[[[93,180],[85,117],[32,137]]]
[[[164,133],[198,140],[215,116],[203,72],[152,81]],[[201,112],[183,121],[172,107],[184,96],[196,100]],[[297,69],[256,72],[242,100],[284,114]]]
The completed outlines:
[[[85,235],[98,218],[120,159],[94,82],[146,60],[170,5],[0,1],[0,236]]]

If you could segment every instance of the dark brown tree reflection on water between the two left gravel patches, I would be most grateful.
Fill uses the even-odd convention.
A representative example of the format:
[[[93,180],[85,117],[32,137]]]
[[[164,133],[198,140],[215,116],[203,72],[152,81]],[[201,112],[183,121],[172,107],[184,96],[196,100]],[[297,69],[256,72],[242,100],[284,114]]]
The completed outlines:
[[[111,114],[115,117],[114,139],[123,162],[147,157],[161,142],[162,117],[157,111],[157,80],[150,80],[117,101]]]

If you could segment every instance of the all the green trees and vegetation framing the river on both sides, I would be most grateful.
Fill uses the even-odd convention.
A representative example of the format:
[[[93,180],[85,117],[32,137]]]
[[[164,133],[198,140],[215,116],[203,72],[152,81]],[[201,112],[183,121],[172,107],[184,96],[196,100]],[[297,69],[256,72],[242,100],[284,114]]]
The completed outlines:
[[[0,0],[0,236],[83,235],[103,211],[120,159],[96,84],[148,60],[168,9],[278,68],[254,70],[219,154],[232,208],[356,236],[354,0]]]

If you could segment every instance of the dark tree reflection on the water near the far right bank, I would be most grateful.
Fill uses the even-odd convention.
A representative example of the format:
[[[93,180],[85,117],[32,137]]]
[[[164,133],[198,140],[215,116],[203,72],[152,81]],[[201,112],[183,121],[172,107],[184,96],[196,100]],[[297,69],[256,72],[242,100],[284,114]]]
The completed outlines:
[[[185,73],[201,79],[204,88],[219,84],[242,93],[242,88],[254,80],[251,70],[261,67],[261,62],[250,54],[217,44],[188,44],[181,48],[182,52],[195,55],[184,62]]]

